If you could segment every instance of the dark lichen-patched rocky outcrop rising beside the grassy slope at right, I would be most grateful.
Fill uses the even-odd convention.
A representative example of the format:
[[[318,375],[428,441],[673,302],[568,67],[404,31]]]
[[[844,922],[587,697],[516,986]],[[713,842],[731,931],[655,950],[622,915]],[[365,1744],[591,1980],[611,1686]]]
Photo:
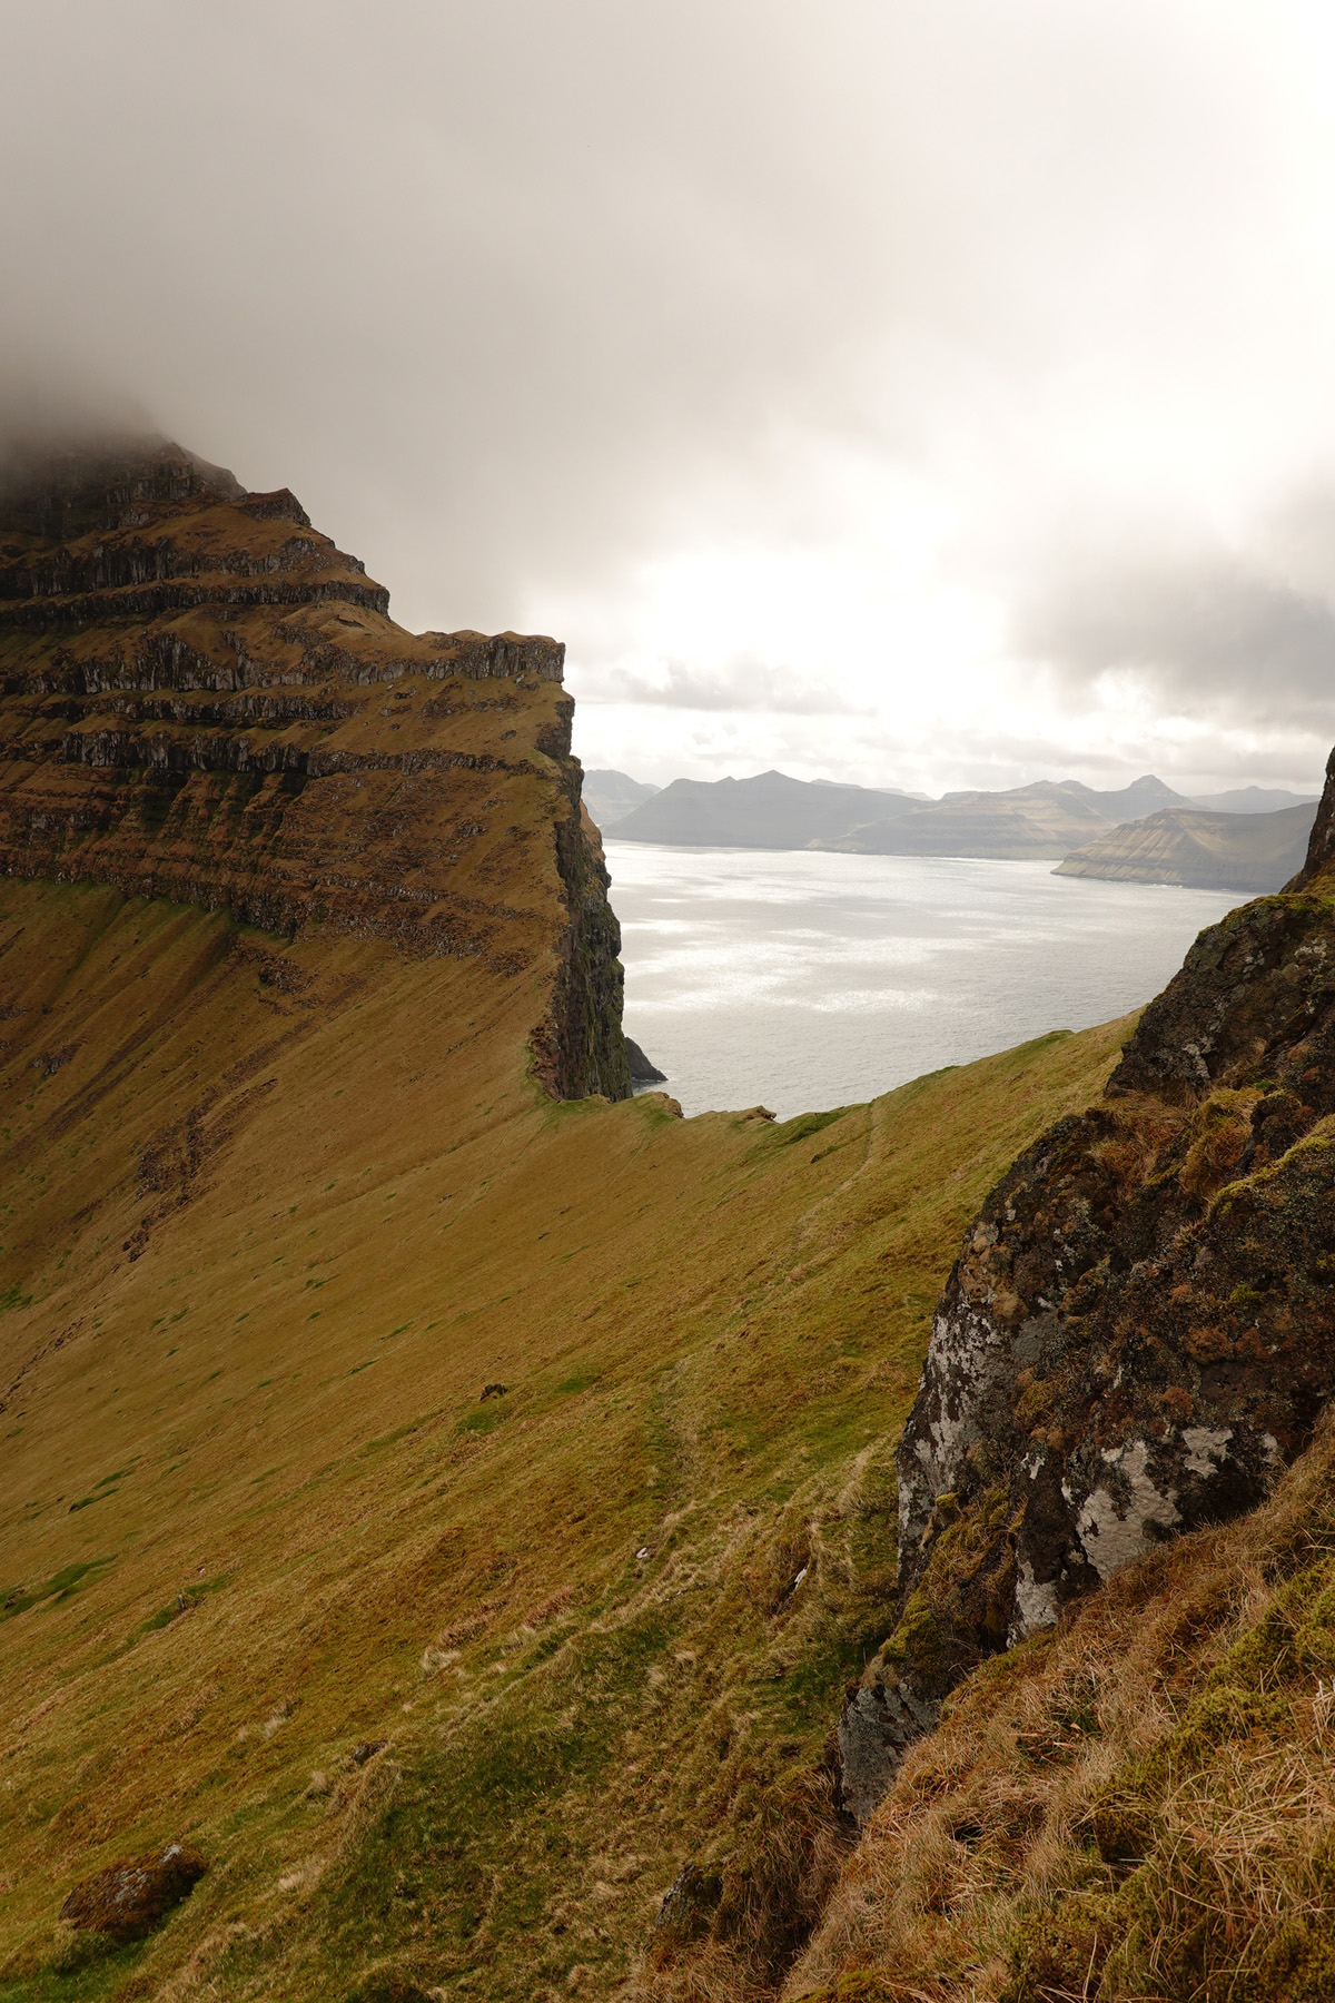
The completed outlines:
[[[899,1448],[901,1618],[845,1711],[883,1775],[987,1654],[1253,1506],[1335,1394],[1333,785],[1299,887],[1201,933],[969,1228]]]

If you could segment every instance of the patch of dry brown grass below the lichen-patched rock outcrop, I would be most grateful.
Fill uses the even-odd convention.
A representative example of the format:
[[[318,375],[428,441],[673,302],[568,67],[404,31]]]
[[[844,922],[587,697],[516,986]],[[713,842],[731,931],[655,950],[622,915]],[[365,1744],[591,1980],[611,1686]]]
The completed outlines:
[[[1335,1993],[1333,1550],[1327,1426],[1253,1516],[973,1677],[785,1997],[853,1995],[855,1971],[933,2003]]]

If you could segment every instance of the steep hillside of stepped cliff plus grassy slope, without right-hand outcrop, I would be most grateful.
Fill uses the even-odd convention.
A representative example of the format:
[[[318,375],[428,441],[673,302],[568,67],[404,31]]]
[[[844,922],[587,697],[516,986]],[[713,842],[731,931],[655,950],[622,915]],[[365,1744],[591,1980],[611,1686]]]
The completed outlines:
[[[624,1098],[554,643],[174,447],[0,545],[0,1997],[773,1989],[927,1310],[1125,1026]]]

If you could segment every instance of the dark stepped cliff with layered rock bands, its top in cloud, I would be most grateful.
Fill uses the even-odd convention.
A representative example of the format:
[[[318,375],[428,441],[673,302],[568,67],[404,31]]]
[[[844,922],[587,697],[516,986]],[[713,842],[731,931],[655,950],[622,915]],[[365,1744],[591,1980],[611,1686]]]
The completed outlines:
[[[630,1090],[564,649],[410,635],[286,491],[178,447],[0,493],[0,869],[538,977],[536,1070]]]

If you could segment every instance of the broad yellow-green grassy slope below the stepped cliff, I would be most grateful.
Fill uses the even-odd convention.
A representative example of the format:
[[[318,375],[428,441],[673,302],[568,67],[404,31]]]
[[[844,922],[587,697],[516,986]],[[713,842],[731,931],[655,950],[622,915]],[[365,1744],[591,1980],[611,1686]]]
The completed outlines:
[[[2,903],[0,1995],[608,1993],[725,1853],[779,1969],[931,1304],[1119,1026],[681,1122],[544,1100],[476,961]],[[56,1973],[186,1831],[154,1943]]]

